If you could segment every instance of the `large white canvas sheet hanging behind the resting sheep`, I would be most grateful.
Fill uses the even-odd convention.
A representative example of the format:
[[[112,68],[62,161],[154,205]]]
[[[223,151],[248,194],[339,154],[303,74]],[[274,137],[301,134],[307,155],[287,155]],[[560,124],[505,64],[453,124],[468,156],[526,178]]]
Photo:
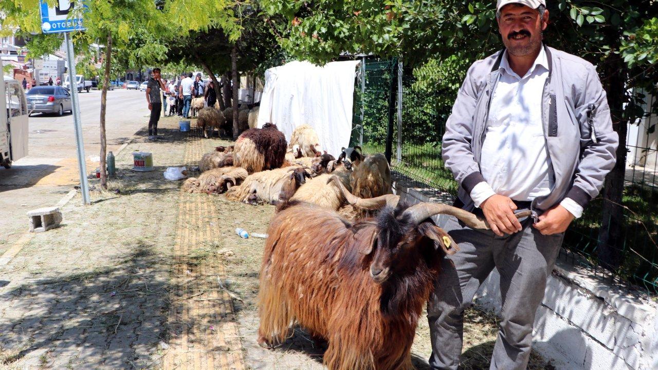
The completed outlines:
[[[272,122],[290,142],[302,124],[315,128],[322,149],[334,157],[349,145],[354,80],[359,61],[316,66],[294,61],[265,71],[258,127]]]

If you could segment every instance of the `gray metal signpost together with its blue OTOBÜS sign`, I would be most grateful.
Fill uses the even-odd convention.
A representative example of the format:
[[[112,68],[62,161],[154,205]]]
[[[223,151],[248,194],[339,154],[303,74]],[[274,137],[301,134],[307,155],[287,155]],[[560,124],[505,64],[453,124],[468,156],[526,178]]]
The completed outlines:
[[[87,165],[84,159],[84,143],[82,142],[82,122],[80,121],[80,105],[78,103],[78,83],[76,79],[76,59],[73,53],[73,42],[68,36],[72,31],[83,31],[82,17],[72,18],[69,13],[82,15],[86,5],[74,0],[58,0],[55,7],[49,7],[44,0],[39,0],[41,9],[41,30],[44,34],[64,33],[66,59],[68,59],[68,76],[70,81],[71,100],[73,103],[73,120],[78,144],[78,170],[80,171],[80,190],[82,201],[89,204],[89,182],[87,181]],[[77,8],[77,9],[76,9]],[[79,10],[79,11],[78,11]]]

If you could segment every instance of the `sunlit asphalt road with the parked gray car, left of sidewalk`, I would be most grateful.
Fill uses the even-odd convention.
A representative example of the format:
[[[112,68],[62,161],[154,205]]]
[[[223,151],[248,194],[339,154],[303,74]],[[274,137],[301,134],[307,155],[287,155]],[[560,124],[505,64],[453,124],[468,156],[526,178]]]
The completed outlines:
[[[91,90],[78,96],[87,171],[91,173],[98,167],[91,159],[100,151],[101,92]],[[108,150],[118,149],[146,126],[148,115],[144,92],[107,92]],[[12,235],[26,230],[28,210],[55,205],[80,183],[73,115],[35,114],[29,124],[29,155],[14,162],[9,170],[0,167],[0,251],[11,243]]]

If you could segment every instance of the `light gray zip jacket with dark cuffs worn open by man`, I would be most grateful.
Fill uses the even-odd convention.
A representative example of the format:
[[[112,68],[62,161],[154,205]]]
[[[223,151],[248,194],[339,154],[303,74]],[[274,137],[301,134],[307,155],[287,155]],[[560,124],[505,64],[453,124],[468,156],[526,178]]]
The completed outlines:
[[[542,122],[551,159],[551,193],[532,202],[532,209],[540,213],[566,197],[585,207],[599,194],[605,175],[614,167],[619,145],[594,66],[551,47],[545,51],[550,68]],[[469,211],[474,208],[470,191],[484,181],[480,155],[502,56],[498,51],[468,68],[443,135],[445,167],[460,184],[459,199]]]

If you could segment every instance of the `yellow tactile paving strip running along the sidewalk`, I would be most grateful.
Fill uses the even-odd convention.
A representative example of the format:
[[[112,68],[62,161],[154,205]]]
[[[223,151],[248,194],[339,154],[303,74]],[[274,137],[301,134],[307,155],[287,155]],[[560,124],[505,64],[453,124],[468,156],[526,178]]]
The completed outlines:
[[[197,134],[186,144],[187,163],[201,157],[203,142],[199,139]],[[217,284],[224,267],[187,261],[190,251],[220,238],[208,221],[217,216],[210,198],[180,194],[168,318],[170,347],[164,370],[246,369],[231,298]]]

